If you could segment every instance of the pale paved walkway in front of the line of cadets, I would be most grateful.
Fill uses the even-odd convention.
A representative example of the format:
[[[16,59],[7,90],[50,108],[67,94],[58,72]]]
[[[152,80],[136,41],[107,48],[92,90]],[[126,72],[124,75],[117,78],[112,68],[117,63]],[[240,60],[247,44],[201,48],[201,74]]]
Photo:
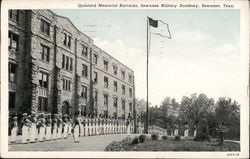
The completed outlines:
[[[74,143],[73,137],[54,141],[45,141],[29,144],[11,144],[9,151],[104,151],[112,141],[120,141],[127,136],[135,137],[138,134],[111,134],[100,136],[80,137],[80,143]]]

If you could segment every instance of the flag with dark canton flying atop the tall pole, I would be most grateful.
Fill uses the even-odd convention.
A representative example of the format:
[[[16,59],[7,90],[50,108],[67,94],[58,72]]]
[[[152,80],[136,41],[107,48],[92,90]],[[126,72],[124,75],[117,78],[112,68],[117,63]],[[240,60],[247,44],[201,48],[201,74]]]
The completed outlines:
[[[171,39],[171,34],[167,23],[161,20],[154,20],[150,17],[148,17],[148,21],[149,21],[149,26],[152,26],[150,29],[150,32],[152,34]]]

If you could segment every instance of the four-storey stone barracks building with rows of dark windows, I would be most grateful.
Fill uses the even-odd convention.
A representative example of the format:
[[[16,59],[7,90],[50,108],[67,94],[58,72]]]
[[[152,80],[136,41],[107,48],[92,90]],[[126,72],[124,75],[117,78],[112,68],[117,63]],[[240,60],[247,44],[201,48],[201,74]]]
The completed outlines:
[[[68,18],[50,10],[9,10],[8,36],[10,113],[132,115],[133,70]]]

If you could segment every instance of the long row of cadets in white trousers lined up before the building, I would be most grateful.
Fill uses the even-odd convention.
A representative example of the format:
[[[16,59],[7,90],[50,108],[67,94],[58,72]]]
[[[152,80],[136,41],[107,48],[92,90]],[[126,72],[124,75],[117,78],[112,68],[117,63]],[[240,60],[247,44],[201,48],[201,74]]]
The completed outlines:
[[[131,118],[111,118],[111,117],[83,117],[77,115],[73,120],[70,116],[63,117],[58,114],[45,115],[41,113],[27,116],[24,113],[20,124],[14,116],[10,123],[11,143],[17,143],[17,132],[21,131],[21,141],[23,144],[44,142],[58,139],[67,139],[73,136],[75,142],[79,142],[79,137],[106,135],[106,134],[130,134],[134,130],[134,122]],[[20,130],[19,130],[20,129]],[[142,133],[142,126],[137,132]]]

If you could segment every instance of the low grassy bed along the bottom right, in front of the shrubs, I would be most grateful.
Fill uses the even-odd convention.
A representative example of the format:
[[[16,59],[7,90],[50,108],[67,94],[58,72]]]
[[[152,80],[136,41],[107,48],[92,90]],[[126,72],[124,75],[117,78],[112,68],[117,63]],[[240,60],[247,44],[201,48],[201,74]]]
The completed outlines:
[[[123,151],[240,151],[240,144],[225,142],[219,146],[217,142],[193,140],[147,140],[137,145],[126,144]]]

